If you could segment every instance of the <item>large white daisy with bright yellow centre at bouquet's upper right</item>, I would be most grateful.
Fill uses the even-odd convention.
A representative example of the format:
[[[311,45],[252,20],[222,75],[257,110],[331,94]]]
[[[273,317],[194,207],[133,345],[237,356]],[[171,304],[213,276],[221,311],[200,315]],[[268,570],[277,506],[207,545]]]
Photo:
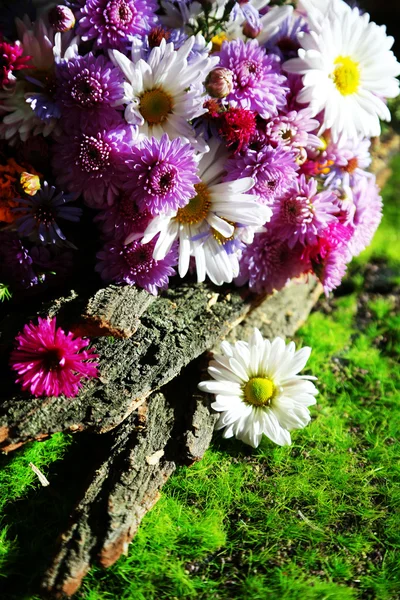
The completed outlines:
[[[324,111],[321,133],[331,129],[335,140],[341,134],[379,136],[379,119],[390,121],[384,99],[399,93],[394,40],[369,19],[333,2],[318,29],[299,36],[299,58],[284,64],[286,71],[303,75],[297,100],[310,104],[313,115]]]

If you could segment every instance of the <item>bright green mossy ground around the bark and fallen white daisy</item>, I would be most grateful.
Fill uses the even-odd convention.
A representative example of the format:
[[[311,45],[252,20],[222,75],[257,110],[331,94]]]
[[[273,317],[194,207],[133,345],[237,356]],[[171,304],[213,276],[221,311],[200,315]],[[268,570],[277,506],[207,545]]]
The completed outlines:
[[[92,569],[77,600],[400,598],[400,157],[393,167],[373,245],[297,335],[319,379],[311,424],[285,448],[216,436],[167,483],[128,556]],[[67,496],[74,468],[61,459],[75,452],[78,465],[76,444],[58,434],[0,459],[1,599],[38,598],[66,516],[29,463]]]

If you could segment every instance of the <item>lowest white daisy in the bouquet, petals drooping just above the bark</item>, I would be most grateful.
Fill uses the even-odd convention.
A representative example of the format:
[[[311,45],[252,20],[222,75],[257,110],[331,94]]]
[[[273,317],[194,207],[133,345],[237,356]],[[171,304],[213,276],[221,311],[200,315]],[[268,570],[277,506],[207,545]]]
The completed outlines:
[[[272,211],[247,194],[254,179],[245,177],[223,182],[226,153],[217,142],[200,159],[195,185],[197,195],[177,212],[155,217],[147,227],[143,243],[159,234],[154,248],[155,260],[162,260],[179,241],[178,271],[184,277],[190,258],[196,263],[197,280],[208,276],[213,283],[231,283],[239,271],[238,240],[251,243],[255,231],[270,220]],[[248,231],[250,230],[250,231]],[[130,243],[135,234],[128,236]]]

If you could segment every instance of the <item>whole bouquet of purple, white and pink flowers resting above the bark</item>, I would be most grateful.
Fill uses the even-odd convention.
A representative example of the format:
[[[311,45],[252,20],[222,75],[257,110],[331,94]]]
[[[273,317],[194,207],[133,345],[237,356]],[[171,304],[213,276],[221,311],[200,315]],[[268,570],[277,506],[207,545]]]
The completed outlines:
[[[78,265],[151,294],[340,284],[381,219],[385,27],[343,0],[3,4],[2,299]]]

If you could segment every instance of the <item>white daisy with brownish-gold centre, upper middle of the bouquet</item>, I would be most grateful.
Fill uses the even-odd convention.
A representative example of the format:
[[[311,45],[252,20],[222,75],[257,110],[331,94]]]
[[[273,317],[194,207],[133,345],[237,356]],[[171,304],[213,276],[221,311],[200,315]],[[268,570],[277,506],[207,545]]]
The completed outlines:
[[[219,62],[218,57],[199,55],[188,63],[194,36],[179,48],[161,41],[147,61],[132,62],[118,50],[110,50],[111,59],[124,73],[125,119],[138,127],[140,137],[161,139],[186,138],[196,144],[193,127],[188,123],[206,112],[203,108],[203,82]]]

